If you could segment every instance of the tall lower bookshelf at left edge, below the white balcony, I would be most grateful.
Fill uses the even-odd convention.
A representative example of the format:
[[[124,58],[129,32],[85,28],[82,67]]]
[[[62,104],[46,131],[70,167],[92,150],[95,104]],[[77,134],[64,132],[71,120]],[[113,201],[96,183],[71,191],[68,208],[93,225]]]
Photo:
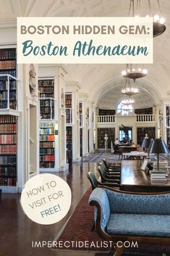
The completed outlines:
[[[0,186],[17,186],[17,117],[0,115]]]

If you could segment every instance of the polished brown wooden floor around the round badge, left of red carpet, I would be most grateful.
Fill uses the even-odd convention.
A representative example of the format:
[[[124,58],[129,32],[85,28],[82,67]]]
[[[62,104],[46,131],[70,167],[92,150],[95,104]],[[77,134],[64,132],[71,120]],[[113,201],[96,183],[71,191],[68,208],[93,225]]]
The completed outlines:
[[[72,206],[67,216],[59,223],[43,226],[27,218],[20,207],[20,194],[2,194],[0,200],[0,255],[1,256],[65,256],[75,252],[63,252],[49,248],[32,248],[32,241],[53,241],[64,223],[75,210],[75,207],[90,183],[86,176],[88,170],[95,170],[95,163],[73,164],[67,173],[59,173],[72,189]],[[80,255],[98,255],[87,252],[76,252]],[[102,256],[102,254],[100,254]],[[108,254],[103,254],[108,255]]]

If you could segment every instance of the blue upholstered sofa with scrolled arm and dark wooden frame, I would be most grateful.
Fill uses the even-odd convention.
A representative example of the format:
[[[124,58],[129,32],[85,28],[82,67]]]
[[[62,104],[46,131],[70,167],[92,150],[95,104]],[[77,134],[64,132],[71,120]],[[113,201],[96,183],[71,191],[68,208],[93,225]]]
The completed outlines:
[[[133,194],[97,188],[89,198],[95,206],[95,227],[102,239],[170,244],[170,192]],[[115,255],[121,255],[117,248]]]

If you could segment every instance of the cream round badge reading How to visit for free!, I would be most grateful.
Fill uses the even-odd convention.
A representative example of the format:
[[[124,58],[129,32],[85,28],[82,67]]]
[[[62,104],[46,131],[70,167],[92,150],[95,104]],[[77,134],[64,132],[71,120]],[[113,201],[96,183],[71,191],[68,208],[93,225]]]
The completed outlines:
[[[28,218],[48,225],[67,215],[71,201],[72,193],[67,182],[54,174],[44,173],[25,183],[20,202]]]

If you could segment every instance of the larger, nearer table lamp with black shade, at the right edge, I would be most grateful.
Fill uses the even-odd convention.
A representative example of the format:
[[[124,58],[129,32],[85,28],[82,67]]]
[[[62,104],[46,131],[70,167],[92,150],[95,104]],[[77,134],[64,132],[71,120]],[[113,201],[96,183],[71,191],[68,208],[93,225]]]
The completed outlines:
[[[159,170],[159,154],[169,154],[169,149],[163,139],[155,139],[148,148],[148,154],[157,154],[157,170]]]

